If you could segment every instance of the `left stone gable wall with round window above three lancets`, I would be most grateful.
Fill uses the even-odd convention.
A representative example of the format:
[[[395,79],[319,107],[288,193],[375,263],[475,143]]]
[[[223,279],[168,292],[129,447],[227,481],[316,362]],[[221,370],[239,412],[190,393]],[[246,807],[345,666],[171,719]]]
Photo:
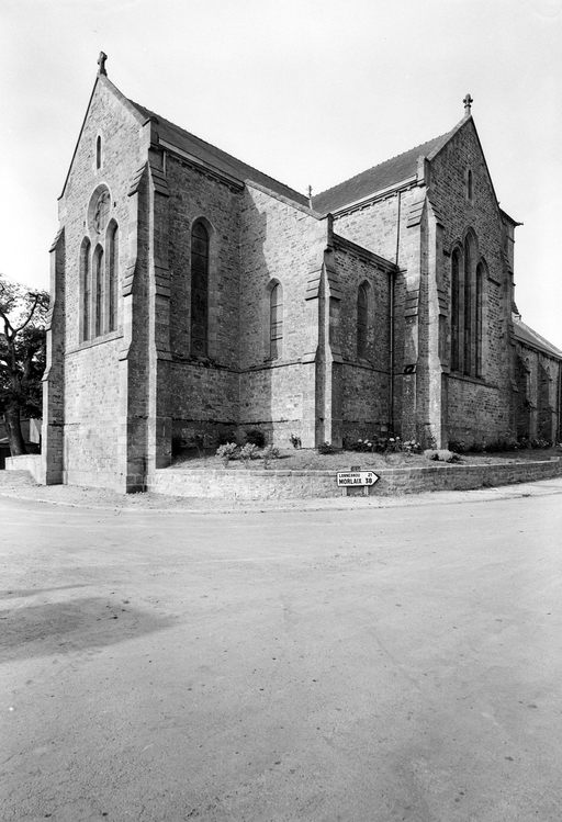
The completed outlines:
[[[126,449],[120,441],[120,425],[123,428],[126,424],[123,419],[124,387],[120,379],[120,352],[126,320],[121,294],[126,271],[131,262],[135,262],[137,224],[131,219],[128,193],[139,166],[146,160],[147,132],[149,125],[144,127],[139,116],[120,99],[106,79],[100,78],[59,204],[65,239],[64,266],[59,260],[55,266],[56,278],[63,283],[60,288],[52,285],[59,300],[64,294],[64,316],[60,316],[60,308],[55,303],[56,324],[53,326],[52,345],[57,358],[60,358],[60,337],[64,336],[65,362],[60,379],[64,379],[65,403],[65,482],[117,486],[120,474],[124,472]],[[99,137],[101,162],[98,168]],[[101,185],[106,187],[110,193],[106,221],[114,221],[119,227],[117,328],[108,331],[108,294],[104,293],[101,333],[95,335],[92,330],[90,339],[83,339],[80,249],[85,238],[89,239],[91,251],[104,241],[104,234],[95,233],[90,213],[92,198]],[[93,294],[91,301],[93,307]],[[47,379],[47,395],[53,393],[52,387]],[[54,419],[53,412],[48,421],[61,423]],[[46,453],[48,455],[48,438]],[[121,465],[117,465],[120,458]],[[60,478],[58,475],[54,481]]]

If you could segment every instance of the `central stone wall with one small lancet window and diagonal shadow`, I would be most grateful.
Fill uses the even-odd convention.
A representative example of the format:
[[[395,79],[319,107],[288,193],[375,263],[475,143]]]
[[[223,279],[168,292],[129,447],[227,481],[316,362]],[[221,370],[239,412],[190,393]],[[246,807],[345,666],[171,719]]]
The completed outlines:
[[[248,183],[240,234],[239,424],[265,429],[270,441],[283,447],[291,433],[304,436],[305,397],[314,394],[315,371],[304,360],[311,354],[313,362],[316,356],[318,312],[307,288],[323,267],[327,243],[327,221]],[[272,357],[270,293],[278,283],[283,335]]]

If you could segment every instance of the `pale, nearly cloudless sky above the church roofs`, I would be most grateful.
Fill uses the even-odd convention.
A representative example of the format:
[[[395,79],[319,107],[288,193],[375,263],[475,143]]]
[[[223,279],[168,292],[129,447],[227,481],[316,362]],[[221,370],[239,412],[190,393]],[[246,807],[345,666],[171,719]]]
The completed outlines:
[[[1,0],[0,272],[48,289],[95,81],[319,193],[472,114],[522,320],[562,349],[562,0]]]

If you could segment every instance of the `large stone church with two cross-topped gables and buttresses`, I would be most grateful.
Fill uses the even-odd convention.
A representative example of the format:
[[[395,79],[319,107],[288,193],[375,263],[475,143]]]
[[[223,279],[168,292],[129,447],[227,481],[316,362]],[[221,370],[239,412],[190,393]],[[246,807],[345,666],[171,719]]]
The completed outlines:
[[[125,98],[105,55],[59,199],[47,483],[146,486],[172,441],[560,437],[472,100],[312,199]]]

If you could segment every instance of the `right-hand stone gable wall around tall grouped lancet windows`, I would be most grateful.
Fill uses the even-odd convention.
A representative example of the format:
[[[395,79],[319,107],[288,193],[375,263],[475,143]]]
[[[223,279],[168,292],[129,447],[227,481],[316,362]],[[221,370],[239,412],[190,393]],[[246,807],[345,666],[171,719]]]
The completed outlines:
[[[472,172],[473,196],[468,196],[467,176]],[[448,394],[449,439],[479,442],[514,436],[512,416],[513,350],[508,344],[512,317],[512,281],[502,258],[508,257],[506,232],[495,200],[487,166],[472,121],[457,131],[431,162],[430,198],[443,221],[443,288],[451,302],[451,252],[475,237],[473,266],[482,259],[487,270],[483,283],[482,378],[451,372]],[[473,295],[474,299],[474,295]],[[450,311],[449,311],[450,322]],[[450,329],[447,361],[450,360]],[[462,341],[461,341],[462,345]]]

